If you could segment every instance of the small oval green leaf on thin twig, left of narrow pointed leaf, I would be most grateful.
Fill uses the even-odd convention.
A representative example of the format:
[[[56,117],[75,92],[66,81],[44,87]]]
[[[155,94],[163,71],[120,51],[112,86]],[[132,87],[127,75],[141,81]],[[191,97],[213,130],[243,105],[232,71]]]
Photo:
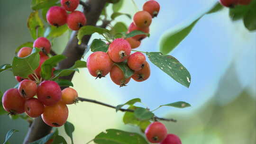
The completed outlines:
[[[139,120],[149,120],[154,117],[154,114],[146,108],[137,107],[134,111],[134,116]]]

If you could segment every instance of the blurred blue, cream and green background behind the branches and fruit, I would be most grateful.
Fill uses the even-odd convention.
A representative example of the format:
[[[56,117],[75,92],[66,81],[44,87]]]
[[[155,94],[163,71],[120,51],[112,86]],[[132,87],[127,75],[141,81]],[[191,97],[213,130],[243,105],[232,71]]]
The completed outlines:
[[[24,42],[33,41],[27,29],[31,0],[0,0],[0,65],[11,63],[15,49]],[[145,0],[136,0],[142,8]],[[216,0],[158,0],[161,11],[150,27],[150,38],[143,40],[141,51],[159,51],[160,37],[166,30],[209,9]],[[133,15],[136,8],[125,0],[123,13]],[[169,133],[179,135],[183,144],[256,144],[256,32],[249,32],[243,22],[231,22],[228,9],[199,20],[192,32],[170,54],[188,69],[192,76],[189,89],[174,81],[150,63],[151,77],[145,82],[130,81],[119,88],[110,77],[94,80],[87,69],[81,69],[73,78],[80,97],[97,99],[118,105],[129,99],[140,98],[151,109],[175,101],[186,101],[190,108],[161,108],[158,117],[175,118],[177,123],[165,123]],[[111,8],[108,9],[111,13]],[[127,26],[132,20],[119,17]],[[61,54],[69,33],[56,38],[53,49]],[[99,38],[93,35],[93,38]],[[85,60],[88,53],[85,56]],[[17,84],[11,72],[0,74],[0,90]],[[140,106],[140,105],[138,105]],[[85,144],[105,129],[118,128],[138,132],[134,126],[124,125],[122,112],[80,102],[68,106],[69,118],[75,126],[75,144]],[[0,143],[9,129],[19,132],[11,144],[21,144],[28,123],[22,119],[10,120],[0,116]],[[70,139],[61,127],[61,135]]]

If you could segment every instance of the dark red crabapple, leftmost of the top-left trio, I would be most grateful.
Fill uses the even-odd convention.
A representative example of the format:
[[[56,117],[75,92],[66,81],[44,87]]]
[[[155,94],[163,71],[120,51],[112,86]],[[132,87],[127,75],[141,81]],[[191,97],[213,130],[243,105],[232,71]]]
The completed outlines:
[[[48,23],[55,27],[60,27],[67,22],[67,12],[59,6],[51,7],[46,14]]]

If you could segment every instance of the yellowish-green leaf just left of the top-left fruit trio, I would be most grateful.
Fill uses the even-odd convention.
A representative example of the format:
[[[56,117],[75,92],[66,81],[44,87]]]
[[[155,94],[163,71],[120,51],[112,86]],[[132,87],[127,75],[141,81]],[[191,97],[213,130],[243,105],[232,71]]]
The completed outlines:
[[[38,11],[31,12],[27,19],[27,27],[30,30],[30,34],[33,39],[44,36],[44,23],[38,15]]]

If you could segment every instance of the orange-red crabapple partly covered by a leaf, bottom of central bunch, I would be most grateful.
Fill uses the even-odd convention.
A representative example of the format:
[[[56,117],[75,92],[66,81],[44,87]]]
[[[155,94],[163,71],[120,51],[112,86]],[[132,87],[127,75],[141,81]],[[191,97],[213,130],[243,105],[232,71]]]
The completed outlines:
[[[110,78],[115,84],[119,85],[120,87],[126,86],[126,84],[131,79],[131,78],[126,79],[123,71],[116,65],[114,65],[112,70],[110,71]]]

